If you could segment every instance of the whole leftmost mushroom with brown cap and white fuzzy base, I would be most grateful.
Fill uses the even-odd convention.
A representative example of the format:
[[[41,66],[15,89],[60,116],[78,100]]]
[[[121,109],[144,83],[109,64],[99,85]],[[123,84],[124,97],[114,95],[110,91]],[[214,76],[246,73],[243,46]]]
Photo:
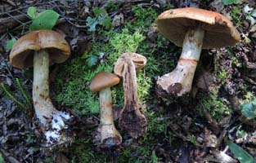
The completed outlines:
[[[36,116],[45,133],[47,143],[65,142],[61,130],[66,128],[67,112],[56,110],[49,95],[49,66],[62,63],[70,56],[70,46],[61,34],[52,30],[38,30],[20,37],[11,49],[11,64],[16,68],[34,66],[33,103]],[[52,126],[51,126],[51,125]]]

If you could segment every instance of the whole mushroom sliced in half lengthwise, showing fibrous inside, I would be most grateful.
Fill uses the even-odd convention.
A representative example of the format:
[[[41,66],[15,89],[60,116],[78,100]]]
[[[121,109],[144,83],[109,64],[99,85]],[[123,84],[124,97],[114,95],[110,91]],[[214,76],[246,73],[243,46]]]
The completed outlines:
[[[124,108],[120,112],[119,126],[127,130],[132,138],[137,138],[146,132],[146,117],[141,114],[137,99],[136,70],[143,68],[146,58],[136,53],[124,53],[115,63],[114,72],[123,77]]]

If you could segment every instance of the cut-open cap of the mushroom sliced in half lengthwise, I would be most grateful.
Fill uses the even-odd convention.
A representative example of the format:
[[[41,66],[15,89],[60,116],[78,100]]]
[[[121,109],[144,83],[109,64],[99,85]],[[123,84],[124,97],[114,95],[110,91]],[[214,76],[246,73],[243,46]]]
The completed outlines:
[[[132,59],[132,62],[135,64],[136,70],[140,70],[141,68],[144,68],[146,65],[146,57],[143,55],[139,55],[137,53],[127,52],[119,56],[119,59],[115,62],[115,68],[114,72],[119,77],[122,76],[123,68],[124,68],[124,62],[126,62],[127,59]]]

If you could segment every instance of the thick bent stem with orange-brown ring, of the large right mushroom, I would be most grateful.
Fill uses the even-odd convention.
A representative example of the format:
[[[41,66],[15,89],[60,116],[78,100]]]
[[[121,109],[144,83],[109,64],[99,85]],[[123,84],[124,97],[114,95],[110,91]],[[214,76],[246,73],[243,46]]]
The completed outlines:
[[[168,95],[182,96],[191,91],[195,68],[200,59],[204,40],[204,29],[200,27],[186,32],[182,55],[177,62],[177,67],[171,73],[165,74],[157,81],[159,90],[164,90]]]

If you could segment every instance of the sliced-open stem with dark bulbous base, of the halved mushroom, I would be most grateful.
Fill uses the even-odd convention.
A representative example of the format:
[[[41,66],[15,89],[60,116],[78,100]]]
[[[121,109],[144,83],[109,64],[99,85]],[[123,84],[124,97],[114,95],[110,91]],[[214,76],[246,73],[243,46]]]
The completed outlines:
[[[124,109],[120,112],[119,126],[127,130],[133,138],[146,132],[146,117],[141,114],[137,101],[136,67],[131,58],[127,58],[122,74],[124,78]]]

